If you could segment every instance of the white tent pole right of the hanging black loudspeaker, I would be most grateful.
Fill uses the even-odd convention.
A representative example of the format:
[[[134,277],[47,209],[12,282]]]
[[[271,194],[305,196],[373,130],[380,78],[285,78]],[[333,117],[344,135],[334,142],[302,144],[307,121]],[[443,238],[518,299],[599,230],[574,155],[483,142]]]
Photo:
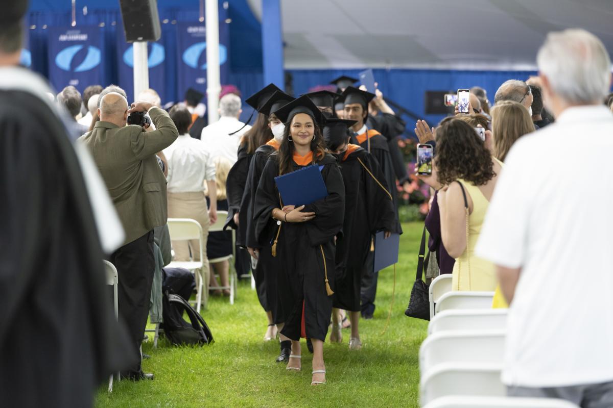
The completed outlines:
[[[207,111],[208,123],[219,119],[219,92],[221,92],[221,79],[219,73],[219,10],[218,0],[206,2],[207,26]]]

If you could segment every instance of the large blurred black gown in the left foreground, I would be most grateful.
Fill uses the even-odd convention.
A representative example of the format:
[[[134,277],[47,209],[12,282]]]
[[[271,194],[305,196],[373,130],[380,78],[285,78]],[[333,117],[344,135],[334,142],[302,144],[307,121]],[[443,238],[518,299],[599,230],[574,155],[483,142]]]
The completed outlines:
[[[100,382],[136,362],[80,165],[66,127],[32,94],[0,91],[0,129],[0,401],[88,407]]]

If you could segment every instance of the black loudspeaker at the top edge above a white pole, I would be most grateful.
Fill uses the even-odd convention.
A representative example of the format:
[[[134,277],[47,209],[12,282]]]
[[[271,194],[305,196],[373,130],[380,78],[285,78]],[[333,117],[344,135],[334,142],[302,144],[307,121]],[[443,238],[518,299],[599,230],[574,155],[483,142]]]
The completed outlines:
[[[157,0],[120,0],[127,42],[157,41],[162,35]]]

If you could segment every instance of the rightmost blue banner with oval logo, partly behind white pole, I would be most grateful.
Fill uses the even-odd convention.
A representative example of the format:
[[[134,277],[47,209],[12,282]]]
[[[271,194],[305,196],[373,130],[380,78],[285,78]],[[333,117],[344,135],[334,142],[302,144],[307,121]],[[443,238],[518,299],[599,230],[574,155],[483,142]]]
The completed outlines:
[[[207,92],[207,29],[204,23],[177,24],[177,91],[182,100],[188,88]],[[221,83],[227,81],[229,34],[219,23],[219,70]]]

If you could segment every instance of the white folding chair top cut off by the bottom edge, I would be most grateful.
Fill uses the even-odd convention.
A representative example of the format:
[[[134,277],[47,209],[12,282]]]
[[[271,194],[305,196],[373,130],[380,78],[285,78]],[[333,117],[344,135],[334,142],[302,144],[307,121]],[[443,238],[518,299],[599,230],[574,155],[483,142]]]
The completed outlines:
[[[579,408],[579,406],[555,398],[453,395],[436,398],[424,408]]]

